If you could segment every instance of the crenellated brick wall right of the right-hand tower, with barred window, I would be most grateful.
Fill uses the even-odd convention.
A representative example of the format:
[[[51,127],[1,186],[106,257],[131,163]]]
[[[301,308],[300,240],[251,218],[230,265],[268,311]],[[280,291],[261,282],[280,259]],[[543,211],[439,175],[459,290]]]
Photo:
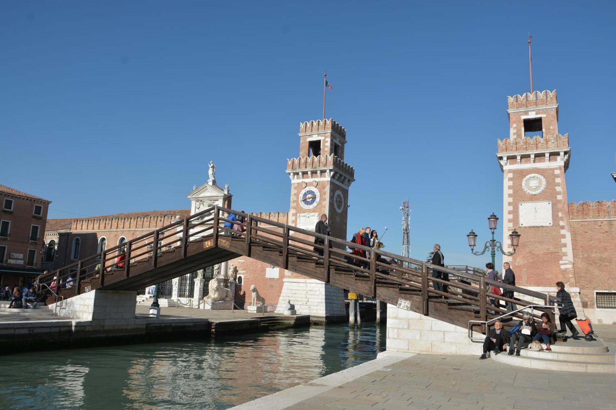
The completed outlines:
[[[594,291],[616,291],[616,201],[569,204],[575,280],[580,299],[595,307]]]

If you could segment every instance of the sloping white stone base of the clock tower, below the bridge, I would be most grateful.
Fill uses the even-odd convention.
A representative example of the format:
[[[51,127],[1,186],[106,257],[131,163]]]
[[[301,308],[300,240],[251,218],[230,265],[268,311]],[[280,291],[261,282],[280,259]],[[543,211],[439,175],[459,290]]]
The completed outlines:
[[[284,313],[286,302],[291,300],[298,315],[343,316],[344,290],[317,279],[283,279],[276,313]]]

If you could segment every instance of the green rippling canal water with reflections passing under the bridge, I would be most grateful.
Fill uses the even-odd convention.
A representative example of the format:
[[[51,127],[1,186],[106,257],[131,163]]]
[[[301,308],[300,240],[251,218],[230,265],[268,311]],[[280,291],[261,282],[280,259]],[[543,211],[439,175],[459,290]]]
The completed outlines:
[[[226,409],[376,358],[364,323],[0,356],[2,409]]]

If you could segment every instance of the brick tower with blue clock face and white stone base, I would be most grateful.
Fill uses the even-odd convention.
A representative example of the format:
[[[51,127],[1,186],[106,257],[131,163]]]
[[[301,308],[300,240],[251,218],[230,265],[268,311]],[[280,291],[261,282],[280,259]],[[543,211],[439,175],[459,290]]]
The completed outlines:
[[[355,170],[344,162],[346,130],[332,119],[299,124],[299,157],[288,159],[291,178],[288,223],[314,231],[320,216],[328,216],[331,236],[347,235],[347,202]],[[312,239],[312,238],[311,238]],[[325,316],[326,320],[346,319],[342,289],[285,273],[278,310],[293,300],[298,313]]]

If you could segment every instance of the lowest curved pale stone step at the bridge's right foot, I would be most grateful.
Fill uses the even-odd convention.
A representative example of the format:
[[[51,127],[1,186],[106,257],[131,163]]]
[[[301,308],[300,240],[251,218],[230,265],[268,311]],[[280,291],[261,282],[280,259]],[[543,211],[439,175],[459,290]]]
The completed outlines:
[[[492,360],[500,363],[511,364],[512,366],[520,366],[522,368],[543,369],[554,371],[567,372],[583,372],[583,373],[613,373],[616,369],[614,363],[584,363],[580,361],[569,360],[553,360],[548,358],[535,358],[523,356],[526,349],[522,349],[521,356],[500,353],[499,355],[491,355]],[[544,353],[544,352],[539,352]],[[550,355],[550,353],[544,353]]]

